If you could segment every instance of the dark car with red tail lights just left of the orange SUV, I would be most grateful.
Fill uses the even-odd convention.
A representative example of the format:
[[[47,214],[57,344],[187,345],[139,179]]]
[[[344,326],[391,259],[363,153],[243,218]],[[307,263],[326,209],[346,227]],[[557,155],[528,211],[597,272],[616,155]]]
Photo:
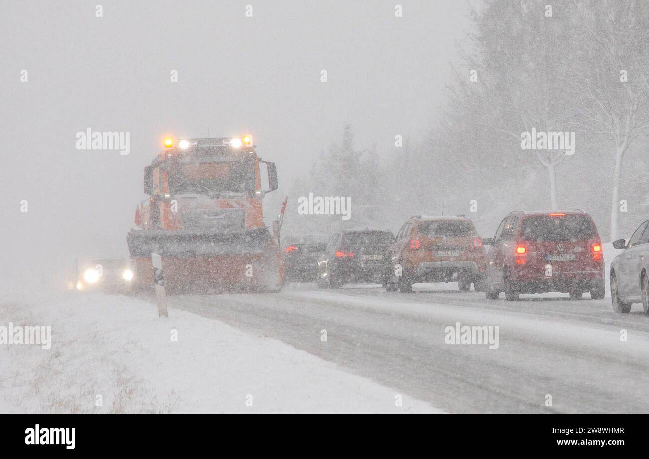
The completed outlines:
[[[395,235],[371,228],[341,230],[332,235],[318,260],[318,287],[347,283],[383,283],[387,248]]]

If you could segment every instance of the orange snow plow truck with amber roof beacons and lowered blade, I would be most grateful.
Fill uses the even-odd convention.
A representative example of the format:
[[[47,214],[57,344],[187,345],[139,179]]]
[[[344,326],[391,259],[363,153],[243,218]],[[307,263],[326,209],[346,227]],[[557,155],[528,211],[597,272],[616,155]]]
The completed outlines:
[[[250,135],[164,139],[164,149],[144,169],[150,197],[138,205],[138,229],[127,236],[135,288],[153,289],[156,253],[167,292],[280,290],[278,234],[271,235],[262,215],[264,194],[277,189],[277,172],[254,148]]]

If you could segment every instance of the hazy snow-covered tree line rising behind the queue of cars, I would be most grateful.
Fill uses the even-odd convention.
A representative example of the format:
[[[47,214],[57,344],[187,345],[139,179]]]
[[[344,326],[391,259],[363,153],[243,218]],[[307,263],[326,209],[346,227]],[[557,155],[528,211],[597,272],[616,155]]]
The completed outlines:
[[[352,196],[358,212],[298,226],[328,233],[465,213],[487,236],[511,209],[583,207],[603,239],[629,237],[649,217],[649,4],[548,6],[485,1],[458,43],[441,121],[378,152],[358,149],[345,126],[291,194]],[[573,154],[548,148],[552,137],[522,148],[524,133],[540,132],[574,135]]]

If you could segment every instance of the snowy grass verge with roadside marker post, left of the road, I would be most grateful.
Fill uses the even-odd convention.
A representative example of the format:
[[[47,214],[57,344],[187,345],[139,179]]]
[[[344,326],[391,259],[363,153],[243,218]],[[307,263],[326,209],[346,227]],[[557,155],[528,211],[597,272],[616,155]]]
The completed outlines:
[[[0,412],[440,412],[277,340],[169,316],[102,294],[0,303],[0,327],[52,327],[49,350],[0,344]]]

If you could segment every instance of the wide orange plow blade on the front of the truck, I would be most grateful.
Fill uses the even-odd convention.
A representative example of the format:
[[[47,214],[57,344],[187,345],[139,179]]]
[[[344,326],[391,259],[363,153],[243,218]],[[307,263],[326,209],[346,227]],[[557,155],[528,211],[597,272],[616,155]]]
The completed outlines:
[[[165,289],[172,294],[278,291],[284,277],[267,228],[235,234],[132,230],[127,243],[138,287],[145,290],[153,288],[152,253],[162,257]]]

